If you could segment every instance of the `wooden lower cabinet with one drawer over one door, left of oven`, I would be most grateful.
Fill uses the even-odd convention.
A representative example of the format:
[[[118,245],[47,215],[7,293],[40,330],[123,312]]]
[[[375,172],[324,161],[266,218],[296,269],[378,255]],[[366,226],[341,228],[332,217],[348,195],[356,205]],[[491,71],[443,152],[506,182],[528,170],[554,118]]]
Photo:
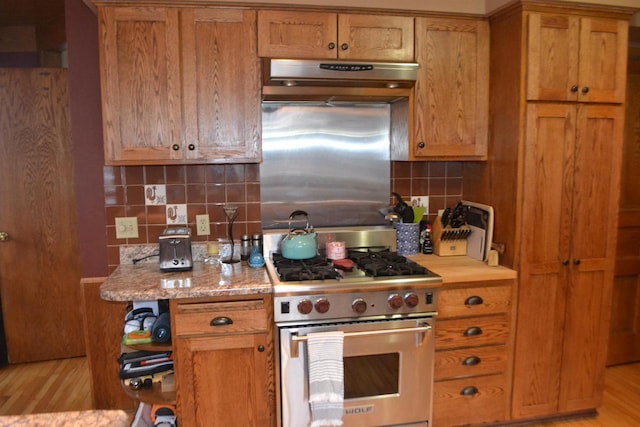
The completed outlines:
[[[275,424],[271,296],[172,300],[178,422]]]

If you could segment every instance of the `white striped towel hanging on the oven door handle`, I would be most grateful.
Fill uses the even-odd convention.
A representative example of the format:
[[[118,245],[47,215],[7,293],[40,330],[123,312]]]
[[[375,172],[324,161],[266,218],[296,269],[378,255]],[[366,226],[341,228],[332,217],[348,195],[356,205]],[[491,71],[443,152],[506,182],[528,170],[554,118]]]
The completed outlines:
[[[341,426],[344,409],[342,331],[307,335],[311,427]]]

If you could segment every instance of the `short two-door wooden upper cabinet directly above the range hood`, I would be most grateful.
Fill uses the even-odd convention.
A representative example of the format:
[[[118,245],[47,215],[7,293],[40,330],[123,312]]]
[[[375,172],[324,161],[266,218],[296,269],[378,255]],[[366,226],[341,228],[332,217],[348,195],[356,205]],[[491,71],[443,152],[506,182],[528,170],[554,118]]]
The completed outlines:
[[[406,16],[258,12],[261,57],[412,62],[413,38]]]

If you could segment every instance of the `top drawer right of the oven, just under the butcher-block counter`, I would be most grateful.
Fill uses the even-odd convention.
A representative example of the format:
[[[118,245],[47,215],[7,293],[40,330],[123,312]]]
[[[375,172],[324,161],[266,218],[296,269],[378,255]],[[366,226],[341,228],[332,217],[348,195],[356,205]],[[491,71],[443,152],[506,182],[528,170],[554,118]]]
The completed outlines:
[[[508,282],[512,283],[512,282]],[[507,313],[511,307],[512,286],[441,288],[438,317],[478,316]]]

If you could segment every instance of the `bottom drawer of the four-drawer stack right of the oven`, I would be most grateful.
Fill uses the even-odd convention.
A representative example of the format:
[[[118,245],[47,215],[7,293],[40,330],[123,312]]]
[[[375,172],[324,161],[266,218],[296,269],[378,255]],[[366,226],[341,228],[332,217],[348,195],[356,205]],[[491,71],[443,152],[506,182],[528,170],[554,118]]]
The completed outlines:
[[[462,426],[507,419],[507,379],[490,375],[433,385],[433,425]]]

